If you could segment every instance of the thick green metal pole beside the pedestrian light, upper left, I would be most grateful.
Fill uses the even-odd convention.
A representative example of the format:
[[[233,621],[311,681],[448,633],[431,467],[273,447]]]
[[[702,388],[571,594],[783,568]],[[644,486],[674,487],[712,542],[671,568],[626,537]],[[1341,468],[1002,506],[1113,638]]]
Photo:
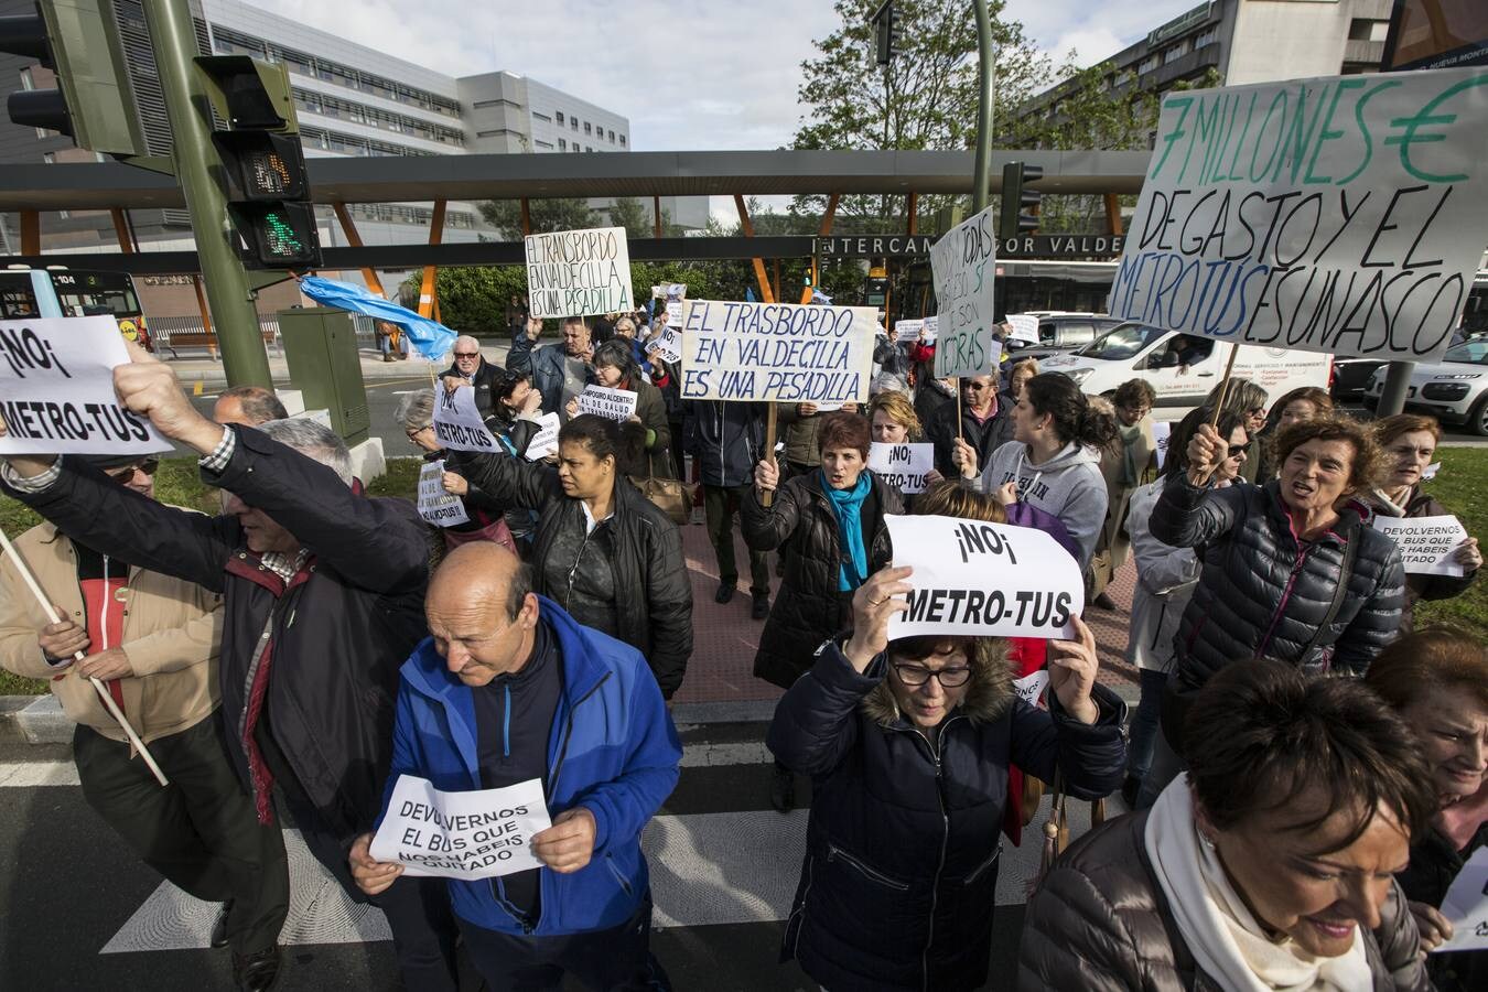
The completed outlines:
[[[201,257],[207,302],[217,324],[222,366],[229,385],[274,388],[269,357],[263,351],[259,312],[248,275],[238,259],[237,233],[228,220],[228,196],[219,181],[222,159],[211,144],[207,91],[192,59],[196,31],[186,0],[141,0],[150,27],[150,46],[161,76],[165,116],[174,135],[171,159],[186,193],[190,229]]]

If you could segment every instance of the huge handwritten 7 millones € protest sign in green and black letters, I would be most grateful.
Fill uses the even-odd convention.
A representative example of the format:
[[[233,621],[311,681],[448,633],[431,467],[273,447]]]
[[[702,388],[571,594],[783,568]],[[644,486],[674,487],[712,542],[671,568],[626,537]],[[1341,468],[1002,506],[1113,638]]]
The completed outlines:
[[[1488,225],[1488,68],[1168,94],[1110,314],[1437,360]]]

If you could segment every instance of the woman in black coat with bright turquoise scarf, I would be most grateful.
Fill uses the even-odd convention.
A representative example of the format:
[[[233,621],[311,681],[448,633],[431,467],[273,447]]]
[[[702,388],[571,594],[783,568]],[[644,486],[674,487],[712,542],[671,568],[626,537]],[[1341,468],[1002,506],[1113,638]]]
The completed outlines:
[[[754,470],[744,501],[744,541],[780,549],[786,576],[754,656],[754,677],[790,689],[817,647],[853,626],[853,592],[891,558],[884,516],[903,513],[899,489],[868,470],[869,425],[862,413],[826,413],[817,431],[821,467],[780,485],[774,460]],[[771,506],[763,495],[774,492]],[[795,779],[780,763],[771,803],[795,805]]]

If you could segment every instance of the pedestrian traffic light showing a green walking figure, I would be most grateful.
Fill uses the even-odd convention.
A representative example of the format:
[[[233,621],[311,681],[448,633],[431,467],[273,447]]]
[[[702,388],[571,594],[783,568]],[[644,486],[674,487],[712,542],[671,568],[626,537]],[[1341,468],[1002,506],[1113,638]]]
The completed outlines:
[[[228,123],[226,131],[211,132],[211,144],[228,180],[228,214],[244,244],[244,265],[317,268],[320,232],[289,71],[247,55],[195,61],[213,109]]]

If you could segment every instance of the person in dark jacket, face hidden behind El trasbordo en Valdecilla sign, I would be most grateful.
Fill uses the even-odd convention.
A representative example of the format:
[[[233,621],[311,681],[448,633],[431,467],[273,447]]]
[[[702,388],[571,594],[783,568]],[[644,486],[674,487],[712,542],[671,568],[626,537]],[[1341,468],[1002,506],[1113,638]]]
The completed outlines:
[[[708,540],[719,559],[719,590],[713,601],[734,598],[740,573],[734,562],[734,515],[754,485],[754,463],[763,458],[765,405],[689,400],[683,434],[687,452],[702,474],[702,506],[708,516]],[[769,562],[765,552],[748,552],[751,616],[769,616]]]

